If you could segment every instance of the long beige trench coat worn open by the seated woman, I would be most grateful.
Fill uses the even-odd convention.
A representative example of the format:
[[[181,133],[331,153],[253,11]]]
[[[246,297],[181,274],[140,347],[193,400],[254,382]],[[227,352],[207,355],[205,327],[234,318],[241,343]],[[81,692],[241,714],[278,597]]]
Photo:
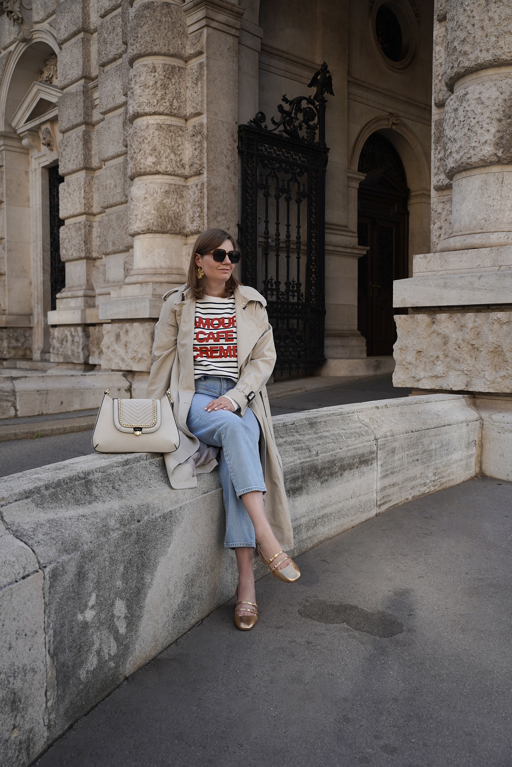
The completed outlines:
[[[197,453],[199,440],[187,429],[187,416],[195,393],[193,377],[193,328],[196,301],[186,285],[164,295],[164,305],[155,327],[147,397],[164,397],[170,387],[174,417],[180,432],[180,446],[164,459],[173,488],[197,486],[197,477],[187,462]],[[266,381],[276,362],[272,328],[265,310],[266,301],[254,288],[240,285],[235,291],[236,337],[239,380],[230,397],[245,413],[247,395],[256,397],[249,404],[259,423],[259,455],[265,476],[265,510],[274,535],[289,550],[293,548],[292,522],[282,474],[282,461],[276,448]],[[198,471],[211,471],[216,461]]]

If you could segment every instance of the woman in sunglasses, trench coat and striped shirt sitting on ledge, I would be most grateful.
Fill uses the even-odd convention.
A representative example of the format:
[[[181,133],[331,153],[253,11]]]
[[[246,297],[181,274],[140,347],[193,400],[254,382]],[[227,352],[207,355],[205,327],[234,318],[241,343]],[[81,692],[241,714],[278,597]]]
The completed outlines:
[[[276,578],[291,583],[300,572],[285,553],[292,524],[265,387],[276,362],[272,328],[265,298],[233,276],[234,248],[222,229],[197,238],[187,285],[164,296],[147,397],[170,387],[180,446],[164,458],[174,488],[196,486],[196,473],[216,466],[220,448],[224,545],[234,548],[239,574],[235,624],[249,630],[258,620],[256,542]]]

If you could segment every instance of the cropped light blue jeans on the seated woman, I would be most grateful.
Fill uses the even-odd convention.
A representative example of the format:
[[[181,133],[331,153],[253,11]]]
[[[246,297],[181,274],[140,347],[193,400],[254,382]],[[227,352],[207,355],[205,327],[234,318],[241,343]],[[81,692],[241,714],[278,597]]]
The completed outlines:
[[[254,548],[253,522],[240,495],[253,490],[266,492],[259,459],[259,423],[249,407],[243,416],[229,410],[212,410],[211,413],[205,410],[211,400],[222,397],[235,386],[235,381],[230,378],[197,378],[187,426],[201,442],[222,448],[218,461],[226,510],[224,545],[227,548]]]

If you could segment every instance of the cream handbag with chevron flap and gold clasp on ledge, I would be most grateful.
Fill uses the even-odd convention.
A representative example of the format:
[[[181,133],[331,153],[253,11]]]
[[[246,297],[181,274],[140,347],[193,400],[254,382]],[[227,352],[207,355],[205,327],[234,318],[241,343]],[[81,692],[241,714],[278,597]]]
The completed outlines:
[[[104,393],[92,446],[97,453],[173,453],[180,444],[167,391],[161,400],[116,400]]]

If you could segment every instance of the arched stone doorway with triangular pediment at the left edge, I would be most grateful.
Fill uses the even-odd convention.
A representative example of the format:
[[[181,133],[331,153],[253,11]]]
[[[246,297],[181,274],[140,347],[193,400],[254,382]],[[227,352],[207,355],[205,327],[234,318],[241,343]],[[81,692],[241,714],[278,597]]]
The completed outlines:
[[[17,357],[48,360],[48,311],[64,286],[58,249],[58,44],[35,30],[16,44],[0,87],[5,204],[5,311],[25,348]],[[18,275],[12,279],[11,275]]]

